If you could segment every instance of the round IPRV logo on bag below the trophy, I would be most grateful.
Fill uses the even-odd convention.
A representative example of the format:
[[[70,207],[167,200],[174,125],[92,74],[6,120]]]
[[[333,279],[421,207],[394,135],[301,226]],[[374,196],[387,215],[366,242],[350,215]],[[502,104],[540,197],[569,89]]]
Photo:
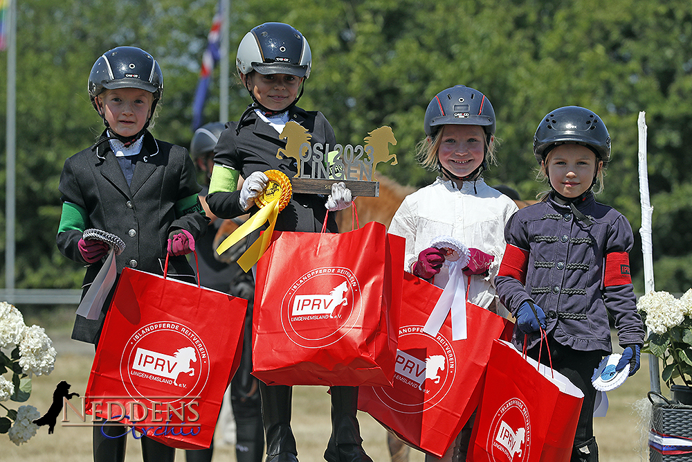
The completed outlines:
[[[361,286],[346,267],[313,269],[293,281],[281,303],[286,335],[304,348],[338,341],[361,316]]]

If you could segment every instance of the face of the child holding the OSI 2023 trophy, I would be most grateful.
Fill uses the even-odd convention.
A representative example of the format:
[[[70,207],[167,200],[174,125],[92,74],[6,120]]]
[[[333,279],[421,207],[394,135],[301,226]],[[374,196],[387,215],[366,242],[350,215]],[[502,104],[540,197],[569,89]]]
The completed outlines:
[[[302,77],[290,74],[268,74],[252,72],[241,74],[241,80],[257,98],[257,101],[270,111],[283,111],[298,96]]]

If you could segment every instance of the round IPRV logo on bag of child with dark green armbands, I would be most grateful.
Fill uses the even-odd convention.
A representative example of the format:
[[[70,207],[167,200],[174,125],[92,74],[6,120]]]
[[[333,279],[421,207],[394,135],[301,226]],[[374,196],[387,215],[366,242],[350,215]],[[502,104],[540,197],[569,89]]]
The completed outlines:
[[[120,357],[120,378],[130,396],[156,402],[199,396],[209,378],[209,355],[188,326],[165,321],[139,328]]]

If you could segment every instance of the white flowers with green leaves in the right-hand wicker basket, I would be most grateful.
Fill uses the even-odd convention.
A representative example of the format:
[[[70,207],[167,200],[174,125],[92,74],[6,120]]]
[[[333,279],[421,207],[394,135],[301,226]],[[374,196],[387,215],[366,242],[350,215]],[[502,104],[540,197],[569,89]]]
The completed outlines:
[[[650,330],[642,353],[663,360],[661,378],[668,387],[680,379],[692,386],[692,289],[680,299],[668,292],[649,292],[637,301]]]

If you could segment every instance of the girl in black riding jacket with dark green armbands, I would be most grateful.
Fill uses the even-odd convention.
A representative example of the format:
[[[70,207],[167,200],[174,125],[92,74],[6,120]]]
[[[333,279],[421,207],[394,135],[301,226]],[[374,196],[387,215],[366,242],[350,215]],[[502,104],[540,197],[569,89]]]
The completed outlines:
[[[163,96],[163,73],[152,55],[118,46],[96,60],[89,74],[89,97],[105,130],[97,141],[65,161],[60,177],[62,217],[57,247],[67,258],[86,265],[84,294],[104,263],[109,244],[84,233],[98,229],[125,243],[116,256],[124,267],[194,282],[185,254],[204,234],[206,217],[197,193],[194,164],[180,146],[154,139],[149,126]],[[96,320],[77,315],[72,338],[98,343],[111,290]],[[95,462],[125,458],[125,427],[93,427]],[[175,449],[143,437],[145,461],[173,461]]]

